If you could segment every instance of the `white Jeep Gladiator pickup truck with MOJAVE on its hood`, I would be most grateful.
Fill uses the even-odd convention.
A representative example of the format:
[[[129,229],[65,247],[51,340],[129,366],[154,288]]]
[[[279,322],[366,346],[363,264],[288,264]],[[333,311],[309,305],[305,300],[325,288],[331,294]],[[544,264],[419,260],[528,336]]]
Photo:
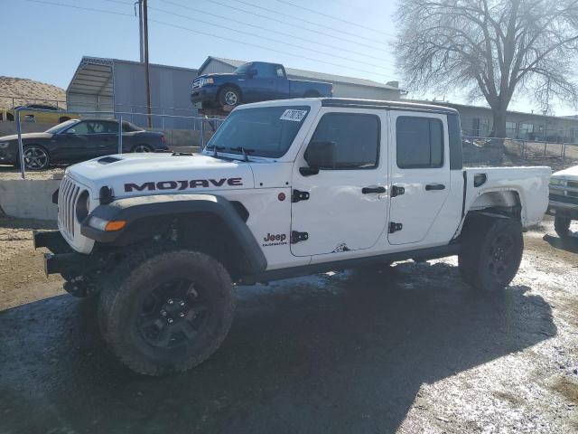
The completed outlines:
[[[466,168],[438,106],[291,99],[235,109],[200,154],[70,166],[48,274],[98,296],[112,352],[138,373],[184,371],[228,333],[234,284],[459,256],[481,291],[508,286],[548,167]]]

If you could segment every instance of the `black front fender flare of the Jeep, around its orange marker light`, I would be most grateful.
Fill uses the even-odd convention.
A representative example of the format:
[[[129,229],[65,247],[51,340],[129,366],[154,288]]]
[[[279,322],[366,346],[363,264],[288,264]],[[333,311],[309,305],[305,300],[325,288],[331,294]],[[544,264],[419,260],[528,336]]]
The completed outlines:
[[[126,221],[117,232],[88,226],[91,216]],[[119,199],[101,205],[82,224],[82,234],[119,247],[167,241],[218,259],[235,278],[266,269],[266,257],[247,226],[241,203],[212,194],[159,194]]]

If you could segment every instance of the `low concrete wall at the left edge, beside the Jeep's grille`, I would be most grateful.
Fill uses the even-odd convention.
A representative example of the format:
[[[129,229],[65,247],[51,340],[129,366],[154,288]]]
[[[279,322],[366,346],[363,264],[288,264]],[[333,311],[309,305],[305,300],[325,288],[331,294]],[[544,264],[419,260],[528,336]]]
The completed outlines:
[[[52,193],[57,180],[11,179],[0,181],[0,208],[6,215],[21,219],[56,220],[58,207]]]

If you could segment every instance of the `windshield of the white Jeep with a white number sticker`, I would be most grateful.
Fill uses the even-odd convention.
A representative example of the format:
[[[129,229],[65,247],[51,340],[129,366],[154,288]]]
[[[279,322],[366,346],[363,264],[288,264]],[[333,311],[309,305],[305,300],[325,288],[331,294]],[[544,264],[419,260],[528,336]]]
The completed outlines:
[[[231,113],[206,149],[278,158],[284,156],[303,125],[309,106],[240,109]],[[241,150],[240,148],[243,148]]]

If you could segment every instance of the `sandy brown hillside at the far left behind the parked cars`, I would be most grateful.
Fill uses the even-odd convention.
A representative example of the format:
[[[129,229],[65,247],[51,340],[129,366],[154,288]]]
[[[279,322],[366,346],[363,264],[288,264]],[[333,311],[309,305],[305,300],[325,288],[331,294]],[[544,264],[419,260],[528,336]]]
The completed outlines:
[[[20,97],[20,99],[14,100],[15,105],[22,105],[27,102],[47,102],[53,105],[55,104],[54,100],[66,100],[64,90],[57,86],[41,81],[0,76],[0,97],[3,96]],[[37,100],[33,101],[33,99]],[[59,107],[61,105],[66,106],[63,102],[59,102]],[[0,109],[11,108],[12,99],[0,98]]]

